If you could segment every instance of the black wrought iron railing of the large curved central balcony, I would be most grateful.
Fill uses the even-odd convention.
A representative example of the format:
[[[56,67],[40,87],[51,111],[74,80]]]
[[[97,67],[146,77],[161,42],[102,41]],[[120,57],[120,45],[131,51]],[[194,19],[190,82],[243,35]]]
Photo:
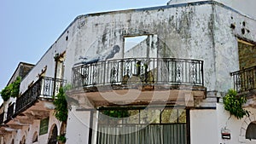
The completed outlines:
[[[73,88],[106,84],[203,86],[203,61],[173,58],[105,60],[73,67]]]

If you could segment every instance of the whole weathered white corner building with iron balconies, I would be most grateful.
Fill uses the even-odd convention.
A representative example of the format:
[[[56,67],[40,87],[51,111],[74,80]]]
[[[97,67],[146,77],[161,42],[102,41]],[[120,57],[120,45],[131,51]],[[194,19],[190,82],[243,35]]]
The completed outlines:
[[[65,133],[67,143],[255,142],[256,19],[239,3],[78,16],[22,79],[2,141],[54,143]],[[66,130],[52,105],[65,85]],[[230,117],[218,101],[232,88],[247,95],[249,117]]]

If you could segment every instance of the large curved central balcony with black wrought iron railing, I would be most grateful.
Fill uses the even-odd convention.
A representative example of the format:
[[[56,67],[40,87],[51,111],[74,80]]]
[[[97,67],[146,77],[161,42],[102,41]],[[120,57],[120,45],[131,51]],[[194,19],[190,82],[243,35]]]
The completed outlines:
[[[172,92],[170,100],[177,100],[180,89],[200,91],[198,97],[205,97],[203,79],[203,61],[173,58],[129,58],[120,60],[105,60],[96,63],[82,64],[73,67],[73,95],[77,99],[85,95],[95,106],[102,106],[107,101],[102,94],[108,95],[108,100],[116,98],[115,93],[138,95],[138,101],[152,99],[156,91]],[[126,92],[125,92],[126,90]],[[161,94],[158,94],[160,101]],[[168,94],[169,95],[169,94]],[[112,98],[110,98],[112,97]],[[122,97],[122,96],[120,96]],[[183,97],[184,98],[184,97]],[[194,100],[193,100],[194,101]],[[109,104],[108,103],[108,104]],[[108,105],[107,104],[107,105]]]

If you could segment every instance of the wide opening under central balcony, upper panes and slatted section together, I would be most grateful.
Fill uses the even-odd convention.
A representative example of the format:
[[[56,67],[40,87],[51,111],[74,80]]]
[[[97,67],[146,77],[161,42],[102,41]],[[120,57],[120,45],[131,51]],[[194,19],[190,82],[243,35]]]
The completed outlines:
[[[104,107],[98,116],[96,143],[186,144],[187,112],[183,108]]]

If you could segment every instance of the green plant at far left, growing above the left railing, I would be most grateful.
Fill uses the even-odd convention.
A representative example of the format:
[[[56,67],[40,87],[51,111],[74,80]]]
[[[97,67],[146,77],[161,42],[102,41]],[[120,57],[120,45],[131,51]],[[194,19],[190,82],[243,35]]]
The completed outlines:
[[[21,78],[17,77],[14,83],[9,84],[8,86],[2,89],[0,94],[2,96],[3,101],[8,101],[10,97],[16,97],[19,95],[20,81]]]

